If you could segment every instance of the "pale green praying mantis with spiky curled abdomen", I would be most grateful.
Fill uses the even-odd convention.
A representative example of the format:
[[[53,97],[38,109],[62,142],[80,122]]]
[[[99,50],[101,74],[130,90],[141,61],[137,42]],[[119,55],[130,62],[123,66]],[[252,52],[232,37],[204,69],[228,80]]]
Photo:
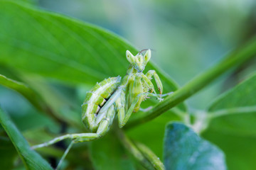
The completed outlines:
[[[143,51],[134,56],[127,50],[126,57],[130,65],[123,79],[119,76],[110,77],[97,83],[91,91],[87,92],[85,101],[82,103],[82,122],[90,130],[89,133],[75,133],[55,137],[49,142],[35,145],[32,148],[47,147],[61,140],[71,139],[72,142],[63,154],[62,159],[60,159],[59,167],[73,143],[97,140],[104,136],[110,130],[116,114],[119,128],[122,128],[132,113],[139,111],[142,101],[146,98],[155,96],[159,101],[162,101],[163,98],[161,97],[169,95],[170,93],[162,94],[163,85],[156,71],[149,70],[146,74],[143,73],[147,62],[151,58],[151,50],[146,50],[145,54],[142,55]],[[159,94],[156,93],[154,84],[151,82],[153,77]]]

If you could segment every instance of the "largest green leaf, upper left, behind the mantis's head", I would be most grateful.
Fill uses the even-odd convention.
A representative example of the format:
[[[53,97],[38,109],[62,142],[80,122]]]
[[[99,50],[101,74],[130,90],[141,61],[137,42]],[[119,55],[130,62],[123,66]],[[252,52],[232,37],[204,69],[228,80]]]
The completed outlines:
[[[0,26],[1,64],[70,84],[124,76],[125,51],[137,53],[107,30],[17,1],[0,1]],[[176,89],[156,66],[147,69],[159,72],[166,91]]]

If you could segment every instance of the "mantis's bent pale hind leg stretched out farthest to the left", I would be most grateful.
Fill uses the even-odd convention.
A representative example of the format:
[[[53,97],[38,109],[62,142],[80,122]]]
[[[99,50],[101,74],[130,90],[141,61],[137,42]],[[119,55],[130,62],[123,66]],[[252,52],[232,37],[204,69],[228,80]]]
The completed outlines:
[[[97,129],[96,133],[74,133],[74,134],[67,134],[60,137],[55,137],[53,140],[50,140],[49,142],[45,142],[40,145],[35,145],[31,147],[32,149],[36,149],[39,147],[47,147],[49,145],[53,145],[56,142],[60,142],[61,140],[70,139],[73,140],[74,143],[77,142],[87,142],[92,140],[97,140],[98,138],[105,135],[105,133],[110,129],[110,125],[112,125],[112,122],[114,120],[114,105],[110,106],[110,108],[107,110],[106,117],[102,119],[102,122],[99,125],[99,128]]]

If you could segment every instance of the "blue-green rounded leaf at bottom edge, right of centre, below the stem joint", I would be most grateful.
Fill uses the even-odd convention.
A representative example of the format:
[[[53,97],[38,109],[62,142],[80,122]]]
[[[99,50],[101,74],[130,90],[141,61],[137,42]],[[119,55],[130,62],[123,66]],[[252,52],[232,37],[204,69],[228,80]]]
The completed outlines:
[[[226,169],[223,152],[181,123],[166,126],[164,165],[166,169]]]

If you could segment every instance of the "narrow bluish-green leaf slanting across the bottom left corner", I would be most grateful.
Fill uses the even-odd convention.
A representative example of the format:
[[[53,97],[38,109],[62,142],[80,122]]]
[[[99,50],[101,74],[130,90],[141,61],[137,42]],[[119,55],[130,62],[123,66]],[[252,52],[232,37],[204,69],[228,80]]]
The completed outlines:
[[[0,109],[0,123],[6,130],[7,135],[13,142],[18,154],[20,155],[23,163],[27,169],[52,169],[50,165],[38,153],[33,151],[25,138],[18,131],[14,123],[10,120],[9,116]]]

